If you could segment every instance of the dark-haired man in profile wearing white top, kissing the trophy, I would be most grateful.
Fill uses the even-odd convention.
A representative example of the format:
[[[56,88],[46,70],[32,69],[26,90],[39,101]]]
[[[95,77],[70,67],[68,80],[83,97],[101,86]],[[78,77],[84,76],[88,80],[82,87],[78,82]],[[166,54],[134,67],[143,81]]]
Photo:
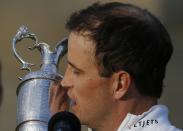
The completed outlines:
[[[82,124],[95,131],[179,130],[157,102],[173,50],[157,18],[130,4],[95,3],[75,12],[66,27],[68,66],[61,85]]]

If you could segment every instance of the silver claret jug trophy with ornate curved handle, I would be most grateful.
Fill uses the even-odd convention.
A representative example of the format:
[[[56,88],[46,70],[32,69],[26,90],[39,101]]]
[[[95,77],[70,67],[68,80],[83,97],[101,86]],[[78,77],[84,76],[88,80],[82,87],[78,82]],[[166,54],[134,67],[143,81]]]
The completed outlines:
[[[30,49],[41,52],[41,69],[31,71],[34,64],[24,61],[16,51],[16,44],[24,38],[34,41]],[[16,131],[47,131],[51,117],[49,110],[49,90],[55,81],[60,81],[57,66],[60,58],[67,52],[67,39],[59,42],[52,52],[49,45],[39,43],[35,34],[26,26],[21,26],[12,41],[12,49],[16,58],[22,63],[22,70],[28,70],[17,88],[17,127]]]

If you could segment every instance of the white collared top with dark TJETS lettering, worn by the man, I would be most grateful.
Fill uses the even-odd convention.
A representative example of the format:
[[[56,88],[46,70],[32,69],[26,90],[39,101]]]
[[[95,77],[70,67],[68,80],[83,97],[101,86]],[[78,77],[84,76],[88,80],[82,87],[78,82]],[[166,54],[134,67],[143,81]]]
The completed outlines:
[[[182,131],[171,125],[168,108],[155,105],[141,115],[128,113],[117,131]]]

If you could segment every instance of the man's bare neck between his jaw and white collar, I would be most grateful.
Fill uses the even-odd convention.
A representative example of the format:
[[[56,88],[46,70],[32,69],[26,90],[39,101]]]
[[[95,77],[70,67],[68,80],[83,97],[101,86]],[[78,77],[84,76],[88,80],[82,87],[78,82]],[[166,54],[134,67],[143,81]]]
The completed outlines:
[[[117,102],[111,114],[109,114],[107,119],[102,121],[102,125],[97,127],[94,131],[117,131],[128,113],[140,115],[156,104],[157,100],[155,98],[145,96],[138,96],[138,98]]]

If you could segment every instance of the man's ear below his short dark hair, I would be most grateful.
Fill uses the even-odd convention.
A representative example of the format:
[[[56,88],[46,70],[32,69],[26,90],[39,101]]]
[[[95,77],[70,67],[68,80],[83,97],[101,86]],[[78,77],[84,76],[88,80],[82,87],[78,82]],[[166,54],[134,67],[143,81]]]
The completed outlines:
[[[131,76],[126,71],[119,71],[115,73],[115,85],[113,88],[113,96],[116,100],[121,99],[129,90],[131,86]]]

